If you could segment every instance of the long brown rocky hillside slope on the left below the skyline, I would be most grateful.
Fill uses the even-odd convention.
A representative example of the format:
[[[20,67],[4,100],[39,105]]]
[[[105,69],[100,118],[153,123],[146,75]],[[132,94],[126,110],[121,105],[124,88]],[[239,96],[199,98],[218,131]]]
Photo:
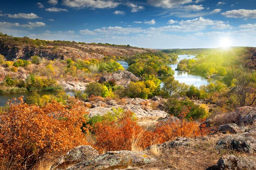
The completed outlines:
[[[155,52],[156,50],[144,50],[139,48],[126,48],[123,46],[108,46],[99,44],[61,44],[61,45],[30,45],[30,44],[12,44],[6,41],[0,41],[0,54],[7,60],[29,59],[29,57],[38,55],[49,60],[65,58],[81,59],[101,59],[105,56],[130,56],[136,53]]]

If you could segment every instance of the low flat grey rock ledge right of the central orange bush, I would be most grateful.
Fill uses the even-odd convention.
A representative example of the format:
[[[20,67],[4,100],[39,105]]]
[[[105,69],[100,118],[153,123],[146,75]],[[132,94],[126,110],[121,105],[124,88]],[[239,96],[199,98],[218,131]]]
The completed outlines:
[[[166,142],[164,144],[158,144],[160,149],[171,149],[177,148],[179,146],[189,146],[191,144],[191,139],[189,137],[179,137],[173,141]]]

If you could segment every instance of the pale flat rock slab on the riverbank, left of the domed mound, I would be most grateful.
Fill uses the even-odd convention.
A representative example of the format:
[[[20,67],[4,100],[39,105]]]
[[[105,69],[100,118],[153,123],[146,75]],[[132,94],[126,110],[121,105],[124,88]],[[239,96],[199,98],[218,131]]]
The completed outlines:
[[[88,82],[75,82],[67,81],[61,79],[58,84],[60,84],[65,91],[84,91]]]

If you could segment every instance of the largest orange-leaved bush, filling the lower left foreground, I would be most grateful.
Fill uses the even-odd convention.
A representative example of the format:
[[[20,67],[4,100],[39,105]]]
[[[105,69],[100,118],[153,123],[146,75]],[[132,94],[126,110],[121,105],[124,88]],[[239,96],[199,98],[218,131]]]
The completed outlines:
[[[31,168],[44,155],[88,144],[81,130],[87,114],[83,107],[67,108],[53,100],[40,108],[19,100],[0,115],[0,162],[12,158]]]

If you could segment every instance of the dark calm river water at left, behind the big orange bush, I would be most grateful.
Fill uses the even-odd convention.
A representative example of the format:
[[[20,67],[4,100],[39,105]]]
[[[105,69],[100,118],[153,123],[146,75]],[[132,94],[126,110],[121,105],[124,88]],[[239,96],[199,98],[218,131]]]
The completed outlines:
[[[65,91],[67,95],[74,96],[74,93],[72,91]],[[11,94],[4,94],[0,95],[0,106],[4,106],[6,102],[9,101],[11,98],[19,98],[20,96],[24,96],[24,99],[26,97],[31,96],[33,92],[22,92],[22,93],[11,93]],[[56,93],[53,91],[38,91],[39,95],[55,95]]]

